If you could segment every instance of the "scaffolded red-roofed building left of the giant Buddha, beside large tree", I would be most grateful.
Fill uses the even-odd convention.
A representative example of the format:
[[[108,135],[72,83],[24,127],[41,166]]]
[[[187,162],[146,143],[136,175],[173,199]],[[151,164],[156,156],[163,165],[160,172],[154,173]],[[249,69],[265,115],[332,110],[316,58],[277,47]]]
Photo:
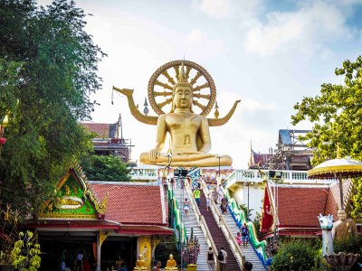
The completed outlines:
[[[124,163],[130,162],[132,141],[123,137],[121,117],[114,124],[81,122],[90,133],[94,134],[92,143],[94,153],[98,155],[113,155]]]

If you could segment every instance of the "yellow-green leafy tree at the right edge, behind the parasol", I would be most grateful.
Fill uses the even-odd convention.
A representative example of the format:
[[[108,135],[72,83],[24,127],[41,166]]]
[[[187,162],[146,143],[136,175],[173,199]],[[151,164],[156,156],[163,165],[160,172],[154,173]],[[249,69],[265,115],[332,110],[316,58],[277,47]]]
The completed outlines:
[[[344,84],[322,84],[320,95],[305,97],[294,106],[297,113],[292,124],[310,120],[313,128],[304,139],[313,147],[313,164],[319,164],[340,154],[362,160],[362,57],[355,62],[344,61],[336,69],[337,76],[344,76]],[[362,182],[354,180],[357,194],[353,196],[353,216],[362,211]]]

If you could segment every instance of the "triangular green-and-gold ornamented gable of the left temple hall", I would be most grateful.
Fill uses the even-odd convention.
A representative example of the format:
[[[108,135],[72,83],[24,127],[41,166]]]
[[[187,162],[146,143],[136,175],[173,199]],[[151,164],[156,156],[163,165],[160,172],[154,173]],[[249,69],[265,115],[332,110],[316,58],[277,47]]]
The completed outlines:
[[[97,219],[107,211],[109,194],[100,201],[79,164],[71,166],[58,182],[54,197],[43,203],[42,218]]]

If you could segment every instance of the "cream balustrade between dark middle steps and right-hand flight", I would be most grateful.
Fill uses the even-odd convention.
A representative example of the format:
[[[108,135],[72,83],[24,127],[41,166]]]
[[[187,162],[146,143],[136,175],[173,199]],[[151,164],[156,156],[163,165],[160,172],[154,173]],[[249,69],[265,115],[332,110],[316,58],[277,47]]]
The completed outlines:
[[[205,181],[202,180],[201,184],[202,184],[202,189],[203,189],[203,192],[205,194],[205,197],[207,197],[207,194],[209,193],[209,190],[208,190],[208,188],[206,186]],[[223,230],[224,236],[225,236],[227,242],[229,243],[229,247],[233,251],[233,255],[236,257],[239,266],[241,268],[243,268],[243,264],[245,262],[245,256],[243,254],[242,248],[240,248],[239,244],[237,243],[236,238],[233,236],[233,232],[231,231],[231,229],[227,225],[226,220],[224,219],[224,217],[220,213],[220,211],[217,208],[214,201],[211,202],[210,207],[212,207],[210,209],[211,209],[211,211],[212,211],[212,213],[214,215],[214,219],[216,221],[218,221],[220,229]]]

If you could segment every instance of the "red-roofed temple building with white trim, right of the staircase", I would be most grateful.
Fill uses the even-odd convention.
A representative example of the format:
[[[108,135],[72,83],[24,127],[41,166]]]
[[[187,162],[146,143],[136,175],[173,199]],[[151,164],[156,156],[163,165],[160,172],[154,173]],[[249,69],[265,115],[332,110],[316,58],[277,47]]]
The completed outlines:
[[[343,184],[348,205],[352,182]],[[262,239],[274,234],[288,237],[321,235],[317,215],[332,214],[338,219],[338,182],[323,185],[274,184],[268,182],[262,200]]]

